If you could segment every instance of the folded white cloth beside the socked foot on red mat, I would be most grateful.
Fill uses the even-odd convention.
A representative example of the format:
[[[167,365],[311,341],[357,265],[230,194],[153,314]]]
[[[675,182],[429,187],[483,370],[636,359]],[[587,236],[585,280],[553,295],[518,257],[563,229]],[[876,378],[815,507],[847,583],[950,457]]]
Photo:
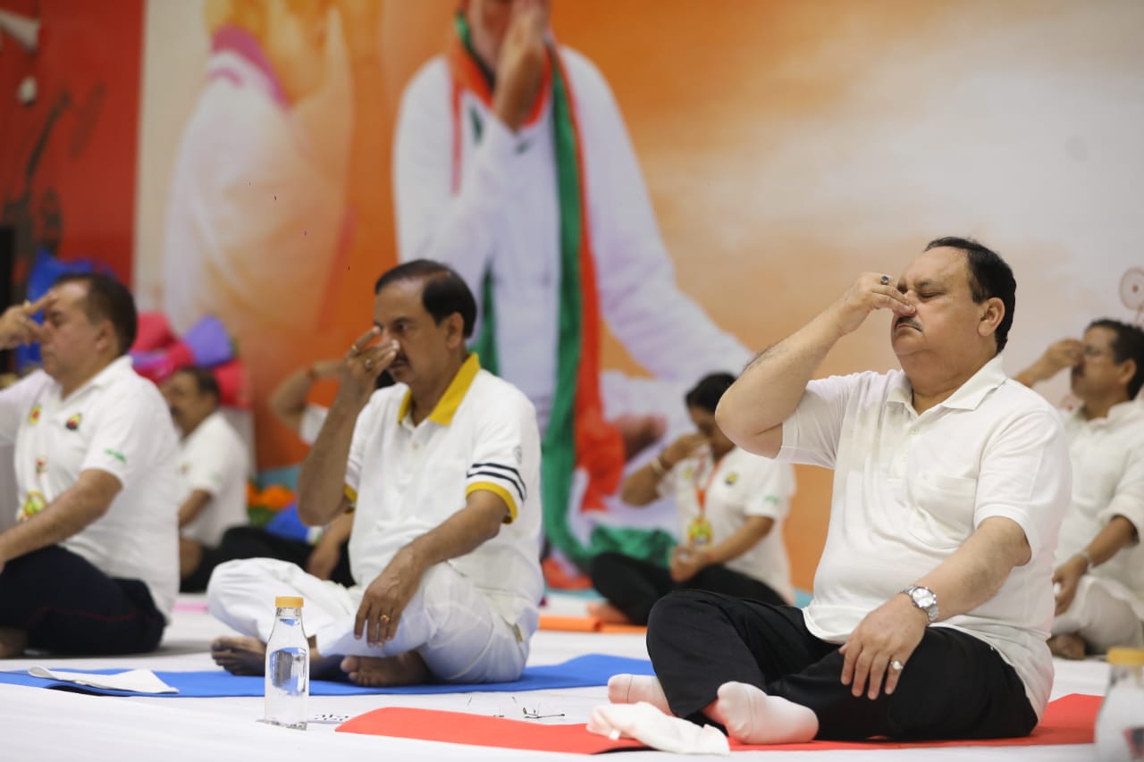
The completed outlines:
[[[604,704],[591,711],[588,730],[607,736],[635,738],[661,752],[676,754],[730,754],[726,736],[717,728],[664,714],[657,707],[638,704]]]

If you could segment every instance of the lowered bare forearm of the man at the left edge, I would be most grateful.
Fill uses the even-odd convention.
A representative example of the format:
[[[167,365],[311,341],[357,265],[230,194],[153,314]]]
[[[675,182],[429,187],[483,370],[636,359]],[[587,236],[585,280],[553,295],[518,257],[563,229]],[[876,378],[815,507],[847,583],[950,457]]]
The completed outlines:
[[[98,519],[122,489],[111,474],[89,468],[76,484],[26,522],[0,533],[0,566],[13,558],[57,545]]]

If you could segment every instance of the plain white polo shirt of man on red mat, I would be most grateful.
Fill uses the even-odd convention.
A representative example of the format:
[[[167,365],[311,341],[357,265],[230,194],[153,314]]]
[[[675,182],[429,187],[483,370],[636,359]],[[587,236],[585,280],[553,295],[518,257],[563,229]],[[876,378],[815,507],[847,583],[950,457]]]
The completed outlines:
[[[986,518],[1019,524],[1030,562],[977,609],[937,626],[992,645],[1041,715],[1052,684],[1044,643],[1052,551],[1071,469],[1059,418],[1040,395],[1007,379],[1000,356],[921,415],[901,371],[811,381],[782,423],[779,458],[834,469],[826,547],[804,612],[811,633],[832,643],[942,564]]]

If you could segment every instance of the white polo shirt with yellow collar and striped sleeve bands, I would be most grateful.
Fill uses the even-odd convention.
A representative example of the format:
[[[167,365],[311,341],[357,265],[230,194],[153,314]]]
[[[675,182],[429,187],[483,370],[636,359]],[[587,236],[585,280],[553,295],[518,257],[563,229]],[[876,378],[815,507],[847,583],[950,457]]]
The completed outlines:
[[[482,371],[476,354],[418,426],[405,384],[378,390],[358,415],[345,484],[357,502],[350,567],[368,585],[394,555],[464,508],[477,490],[510,518],[496,537],[446,563],[472,580],[525,637],[537,629],[540,573],[540,434],[532,403]]]

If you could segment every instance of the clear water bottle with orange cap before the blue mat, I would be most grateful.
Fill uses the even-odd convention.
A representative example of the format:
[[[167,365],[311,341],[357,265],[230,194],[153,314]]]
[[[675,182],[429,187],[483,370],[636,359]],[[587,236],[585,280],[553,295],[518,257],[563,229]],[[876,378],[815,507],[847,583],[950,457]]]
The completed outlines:
[[[280,595],[267,641],[267,724],[305,730],[310,645],[302,632],[302,598]]]

